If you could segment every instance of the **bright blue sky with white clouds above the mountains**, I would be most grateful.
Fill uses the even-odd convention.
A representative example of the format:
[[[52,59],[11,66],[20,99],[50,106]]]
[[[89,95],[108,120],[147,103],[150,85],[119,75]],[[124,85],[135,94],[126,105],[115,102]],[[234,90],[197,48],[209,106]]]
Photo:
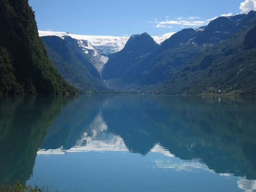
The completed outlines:
[[[240,5],[240,3],[244,4]],[[29,0],[39,30],[86,35],[152,36],[256,10],[256,0]]]

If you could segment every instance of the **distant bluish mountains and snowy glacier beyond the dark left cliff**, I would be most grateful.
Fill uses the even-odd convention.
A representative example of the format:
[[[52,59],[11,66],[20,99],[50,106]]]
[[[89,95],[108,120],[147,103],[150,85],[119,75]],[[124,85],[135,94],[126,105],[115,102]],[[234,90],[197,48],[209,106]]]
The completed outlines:
[[[162,36],[151,37],[146,32],[130,37],[89,36],[52,31],[39,31],[39,36],[64,79],[82,92],[253,95],[255,24],[256,12],[250,11]],[[47,38],[66,42],[76,59],[59,53],[60,62],[53,56],[56,43]]]

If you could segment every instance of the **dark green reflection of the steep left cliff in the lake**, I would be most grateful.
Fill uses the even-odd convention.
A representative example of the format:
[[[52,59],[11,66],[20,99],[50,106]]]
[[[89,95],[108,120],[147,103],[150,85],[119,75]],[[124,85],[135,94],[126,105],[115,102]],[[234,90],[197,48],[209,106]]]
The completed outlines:
[[[26,182],[54,118],[70,97],[0,97],[0,188]]]

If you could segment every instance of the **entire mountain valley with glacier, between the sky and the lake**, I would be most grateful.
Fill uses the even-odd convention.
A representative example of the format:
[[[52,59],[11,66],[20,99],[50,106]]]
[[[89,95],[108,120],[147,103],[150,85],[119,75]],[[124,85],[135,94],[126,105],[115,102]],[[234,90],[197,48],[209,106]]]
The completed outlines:
[[[256,95],[254,10],[160,36],[92,36],[38,30],[22,2],[26,12],[2,2],[0,94]]]

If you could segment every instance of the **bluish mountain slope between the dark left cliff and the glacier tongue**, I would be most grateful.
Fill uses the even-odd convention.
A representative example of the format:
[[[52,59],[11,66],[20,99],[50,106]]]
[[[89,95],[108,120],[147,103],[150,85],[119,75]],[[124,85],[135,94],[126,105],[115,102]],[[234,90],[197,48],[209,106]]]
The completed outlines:
[[[81,92],[106,90],[100,72],[92,64],[92,50],[84,50],[86,42],[70,36],[43,36],[47,52],[63,78]],[[90,54],[88,54],[90,53]]]

